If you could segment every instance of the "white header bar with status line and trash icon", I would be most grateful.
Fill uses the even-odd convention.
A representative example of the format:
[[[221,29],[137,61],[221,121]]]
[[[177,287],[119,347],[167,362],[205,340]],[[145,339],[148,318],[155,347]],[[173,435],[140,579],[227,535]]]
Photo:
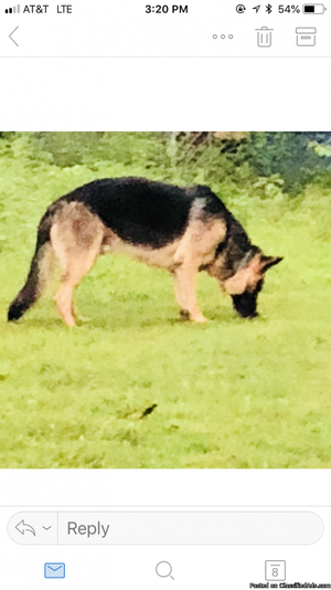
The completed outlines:
[[[241,0],[188,0],[148,2],[146,0],[76,0],[72,14],[58,14],[51,1],[46,13],[3,14],[0,20],[0,55],[106,55],[106,56],[214,56],[214,55],[328,55],[331,11],[323,14],[279,13],[284,0],[260,3],[243,0],[244,13],[236,12]],[[146,4],[168,6],[168,13],[146,13]],[[273,7],[270,14],[266,4]],[[172,13],[172,6],[188,6],[188,13]],[[328,4],[328,0],[324,1]],[[10,2],[9,2],[10,6]],[[29,6],[29,4],[28,4]],[[9,34],[19,27],[12,39]],[[271,29],[271,46],[259,48],[257,30]],[[298,46],[297,28],[317,30],[314,46]],[[225,35],[222,39],[221,35]],[[216,35],[216,39],[214,39]],[[232,35],[229,38],[229,35]]]

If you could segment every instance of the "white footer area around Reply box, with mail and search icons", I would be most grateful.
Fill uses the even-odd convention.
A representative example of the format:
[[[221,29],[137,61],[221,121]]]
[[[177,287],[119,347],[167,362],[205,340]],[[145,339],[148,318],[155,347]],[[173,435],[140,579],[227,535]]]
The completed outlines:
[[[310,509],[324,523],[324,534],[313,545],[205,547],[22,546],[7,534],[7,523],[17,509],[0,509],[1,582],[10,590],[44,590],[50,584],[71,590],[163,590],[168,586],[174,590],[248,590],[252,582],[266,583],[266,560],[285,560],[288,583],[331,583],[331,509]],[[26,523],[28,517],[26,513]],[[171,563],[174,580],[156,575],[157,563],[163,560]],[[50,561],[65,563],[64,580],[44,579],[44,563]]]

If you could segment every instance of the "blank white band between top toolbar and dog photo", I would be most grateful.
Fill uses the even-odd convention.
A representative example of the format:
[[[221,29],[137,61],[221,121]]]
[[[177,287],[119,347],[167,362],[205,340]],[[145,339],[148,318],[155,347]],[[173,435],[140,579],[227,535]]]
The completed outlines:
[[[3,130],[329,130],[331,59],[1,59]]]

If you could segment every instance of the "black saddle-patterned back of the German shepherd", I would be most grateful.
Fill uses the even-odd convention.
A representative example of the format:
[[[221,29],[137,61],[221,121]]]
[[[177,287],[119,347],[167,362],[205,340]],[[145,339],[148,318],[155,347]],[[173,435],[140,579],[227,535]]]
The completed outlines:
[[[125,242],[156,249],[183,235],[194,207],[204,218],[226,212],[207,187],[183,189],[135,177],[89,182],[52,207],[64,202],[83,203]]]

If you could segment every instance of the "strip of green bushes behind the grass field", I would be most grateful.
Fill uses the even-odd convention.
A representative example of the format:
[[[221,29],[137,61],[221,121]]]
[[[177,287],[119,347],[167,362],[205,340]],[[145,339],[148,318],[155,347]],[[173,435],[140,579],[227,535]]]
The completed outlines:
[[[38,133],[0,134],[0,157],[22,165],[118,169],[183,185],[275,198],[310,182],[331,187],[331,133]]]

